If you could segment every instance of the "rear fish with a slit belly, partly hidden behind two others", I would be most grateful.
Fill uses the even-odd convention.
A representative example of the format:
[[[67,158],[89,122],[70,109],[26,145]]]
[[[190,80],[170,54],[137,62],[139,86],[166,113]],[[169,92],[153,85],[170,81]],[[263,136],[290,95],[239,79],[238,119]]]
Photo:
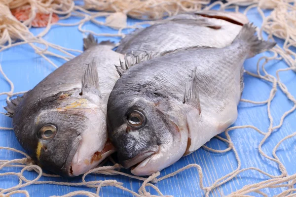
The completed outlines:
[[[115,50],[164,52],[190,46],[224,47],[233,41],[248,18],[240,12],[202,10],[179,14],[128,34]]]

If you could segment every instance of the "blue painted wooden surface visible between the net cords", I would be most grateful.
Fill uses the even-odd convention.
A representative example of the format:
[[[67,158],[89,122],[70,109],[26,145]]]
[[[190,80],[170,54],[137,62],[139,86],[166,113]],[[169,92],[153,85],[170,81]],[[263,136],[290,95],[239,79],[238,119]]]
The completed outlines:
[[[241,9],[240,11],[243,11]],[[268,15],[268,12],[265,12]],[[258,12],[253,9],[248,13],[250,21],[254,22],[255,25],[260,26],[261,18]],[[104,20],[103,18],[98,18]],[[72,17],[67,20],[62,20],[63,23],[77,22],[78,19]],[[128,24],[133,24],[138,20],[128,19]],[[116,31],[107,27],[98,27],[92,23],[86,23],[83,29],[93,30],[97,33],[115,33]],[[41,32],[44,29],[32,28],[31,31],[34,34]],[[126,31],[130,32],[130,31]],[[52,30],[44,36],[44,39],[59,44],[64,47],[82,50],[82,38],[83,34],[77,30],[77,27],[59,27],[54,26]],[[111,39],[112,41],[118,42],[119,38],[114,37],[98,37],[99,41],[104,39]],[[283,44],[283,41],[276,39],[279,45]],[[55,51],[59,53],[58,51]],[[265,53],[266,55],[267,53]],[[100,54],[98,54],[100,55]],[[256,72],[256,63],[263,54],[260,54],[252,59],[245,62],[245,69]],[[58,66],[61,66],[64,61],[52,58],[50,59]],[[46,60],[35,54],[34,50],[29,45],[21,45],[10,48],[0,53],[0,64],[8,78],[15,85],[15,92],[26,91],[32,89],[39,81],[45,76],[52,72],[55,68],[51,66]],[[283,61],[271,61],[266,66],[269,73],[275,75],[275,72],[279,68],[286,68],[287,65]],[[289,91],[293,96],[296,96],[296,73],[293,71],[287,71],[281,74],[282,82],[286,84]],[[251,99],[256,101],[262,101],[269,97],[271,84],[265,81],[259,80],[249,75],[245,75],[245,89],[243,92],[243,99]],[[9,85],[5,82],[4,78],[0,76],[0,92],[9,91]],[[5,106],[5,96],[0,97],[0,112],[4,112],[2,106]],[[274,124],[279,124],[280,118],[283,113],[289,110],[293,106],[285,95],[279,90],[275,96],[275,99],[271,104],[271,114],[274,117]],[[267,117],[267,106],[266,105],[254,105],[250,103],[241,102],[238,106],[238,119],[234,126],[241,125],[253,125],[258,127],[262,131],[267,131],[269,126],[269,120]],[[0,126],[1,127],[12,127],[11,119],[0,115]],[[268,155],[272,156],[273,147],[285,136],[296,131],[296,112],[289,115],[281,129],[272,133],[268,140],[263,145],[263,151]],[[242,168],[245,167],[258,167],[261,170],[268,172],[273,175],[279,175],[277,165],[259,155],[258,145],[262,139],[257,131],[251,129],[242,129],[230,131],[231,140],[234,143],[235,148],[238,151],[239,157],[242,162]],[[224,136],[224,133],[221,134]],[[225,149],[227,144],[213,138],[207,145],[214,149]],[[23,150],[20,144],[17,142],[13,131],[0,131],[0,146],[13,147],[19,150]],[[286,140],[278,149],[277,155],[282,163],[286,166],[289,175],[296,173],[295,162],[296,162],[296,141],[295,138]],[[0,150],[0,160],[21,158],[21,155]],[[176,164],[161,171],[161,176],[173,172],[187,164],[200,164],[204,173],[203,183],[205,186],[212,185],[215,180],[233,171],[237,167],[232,151],[223,154],[210,153],[204,149],[199,149],[193,154],[182,158]],[[17,168],[4,168],[0,170],[0,173],[7,171],[19,171]],[[34,172],[26,172],[26,177],[33,179],[37,174]],[[105,180],[105,179],[116,179],[119,182],[123,182],[124,186],[138,191],[142,182],[134,179],[130,179],[124,176],[105,176],[105,175],[89,175],[87,180]],[[220,189],[214,190],[211,196],[223,196],[230,194],[231,191],[238,190],[246,184],[254,184],[259,181],[266,180],[268,177],[260,174],[257,171],[248,170],[240,173],[233,180],[222,185]],[[70,181],[78,182],[81,177],[74,179],[66,178],[45,178],[42,177],[40,180],[57,180],[57,181]],[[0,188],[8,188],[18,184],[18,179],[14,176],[0,177]],[[168,178],[156,184],[160,191],[166,195],[174,195],[178,197],[193,197],[203,196],[204,193],[199,188],[199,179],[197,170],[194,168],[188,169],[175,177]],[[32,197],[48,197],[51,195],[64,195],[69,192],[77,190],[86,190],[95,192],[95,189],[84,188],[84,187],[69,187],[69,186],[57,186],[57,185],[32,185],[24,188],[29,191]],[[153,189],[149,189],[151,194],[156,194]],[[285,188],[278,189],[263,189],[262,191],[273,196],[284,191]],[[121,190],[114,187],[104,187],[100,196],[102,197],[120,197],[130,194],[122,192]],[[258,196],[256,193],[251,195]],[[14,195],[18,196],[18,195]]]

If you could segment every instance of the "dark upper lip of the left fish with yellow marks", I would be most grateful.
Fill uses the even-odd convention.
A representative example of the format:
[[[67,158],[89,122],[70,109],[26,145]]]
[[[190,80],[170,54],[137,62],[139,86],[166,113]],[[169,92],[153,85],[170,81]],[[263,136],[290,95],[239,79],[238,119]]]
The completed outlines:
[[[78,135],[73,143],[72,143],[72,147],[70,149],[70,152],[66,158],[65,164],[63,165],[63,167],[61,168],[61,172],[63,174],[63,176],[66,177],[74,177],[73,175],[73,171],[72,171],[72,160],[74,158],[74,155],[79,147],[79,142],[82,140],[82,137],[80,135]]]

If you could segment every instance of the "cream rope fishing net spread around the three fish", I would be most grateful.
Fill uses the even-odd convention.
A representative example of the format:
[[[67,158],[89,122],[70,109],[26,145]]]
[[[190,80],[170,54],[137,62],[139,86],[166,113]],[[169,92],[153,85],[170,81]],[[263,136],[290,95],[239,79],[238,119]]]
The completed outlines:
[[[77,195],[88,196],[88,197],[98,197],[99,192],[102,187],[116,187],[123,191],[130,193],[136,197],[143,196],[164,196],[161,191],[157,188],[157,183],[161,182],[169,177],[176,176],[178,173],[187,170],[189,168],[196,168],[199,177],[199,187],[204,191],[206,197],[210,196],[215,189],[221,188],[225,183],[233,180],[240,173],[244,171],[258,171],[259,173],[265,175],[267,180],[260,181],[256,184],[245,185],[240,189],[232,189],[229,192],[228,197],[248,197],[250,194],[257,194],[263,197],[268,195],[262,192],[264,188],[283,188],[283,192],[279,193],[278,197],[292,197],[296,196],[296,174],[289,175],[285,165],[280,161],[277,155],[277,149],[281,144],[285,143],[288,138],[292,138],[296,135],[296,132],[289,133],[284,136],[282,139],[278,139],[278,143],[272,150],[272,156],[268,156],[266,152],[262,150],[263,144],[269,143],[269,138],[271,134],[280,129],[284,124],[284,119],[296,109],[296,99],[288,91],[286,85],[281,81],[281,76],[285,75],[285,72],[289,70],[296,71],[296,2],[294,0],[227,0],[226,3],[222,1],[216,1],[212,4],[209,4],[209,0],[84,0],[84,4],[76,5],[72,0],[0,0],[0,52],[8,48],[29,44],[35,52],[48,61],[53,66],[57,67],[48,57],[53,56],[61,58],[65,61],[72,59],[75,55],[74,52],[81,53],[79,50],[73,50],[59,45],[50,43],[43,39],[43,36],[48,33],[52,26],[77,26],[78,30],[82,33],[93,33],[97,36],[117,36],[124,37],[125,34],[122,33],[124,29],[132,29],[139,27],[143,24],[153,24],[156,20],[161,20],[162,17],[175,15],[181,12],[196,11],[200,9],[211,9],[214,6],[219,6],[219,9],[234,9],[238,11],[239,6],[248,6],[244,14],[247,14],[249,11],[255,11],[262,18],[262,24],[258,29],[259,36],[262,37],[263,32],[267,33],[268,38],[274,39],[275,37],[281,38],[284,40],[283,46],[280,47],[276,45],[270,52],[272,56],[264,56],[258,60],[257,72],[248,72],[247,74],[257,77],[262,81],[265,81],[271,84],[271,90],[269,97],[263,101],[251,101],[247,99],[241,99],[242,102],[249,102],[255,105],[266,105],[267,114],[269,119],[269,126],[266,131],[259,130],[255,126],[245,125],[245,126],[235,126],[227,129],[225,131],[225,138],[221,136],[216,136],[219,140],[222,140],[227,144],[227,148],[224,150],[214,150],[210,147],[203,146],[203,148],[209,152],[214,152],[216,154],[224,154],[227,152],[232,152],[235,155],[237,165],[235,169],[226,174],[223,177],[218,178],[214,182],[204,185],[204,174],[202,167],[198,164],[189,164],[183,168],[178,169],[173,173],[169,173],[164,176],[160,176],[160,173],[154,173],[148,178],[133,176],[127,173],[122,172],[121,166],[119,164],[100,166],[95,169],[92,169],[85,173],[82,176],[82,179],[78,183],[74,182],[62,182],[57,179],[57,181],[51,181],[51,179],[46,179],[47,177],[58,177],[57,175],[46,174],[42,169],[34,164],[31,158],[24,152],[16,150],[13,147],[0,147],[0,151],[12,151],[17,152],[23,156],[21,159],[12,159],[12,160],[0,160],[0,176],[15,176],[19,180],[19,184],[11,188],[0,189],[0,197],[7,197],[14,194],[23,194],[26,197],[29,197],[30,194],[23,190],[27,186],[34,184],[56,184],[56,185],[65,185],[65,186],[83,186],[85,188],[96,188],[96,192],[89,191],[76,191],[64,195],[63,197],[72,197]],[[132,4],[132,6],[131,6]],[[23,22],[20,22],[16,19],[17,16],[14,16],[13,9],[17,9],[22,6],[29,6],[27,10],[28,16],[23,19]],[[89,10],[93,11],[89,11]],[[264,15],[264,9],[271,9],[270,14],[267,16]],[[34,20],[38,14],[45,14],[47,17],[46,28],[43,32],[34,35],[30,32],[30,28],[34,26]],[[59,19],[67,19],[72,16],[80,18],[80,20],[73,24],[63,24],[63,23],[54,23],[52,21],[55,14],[60,15]],[[62,15],[62,17],[61,17]],[[144,21],[136,23],[133,26],[128,26],[126,19],[127,16],[137,19],[151,19],[150,21]],[[97,17],[105,17],[106,21],[101,22],[97,20]],[[36,21],[35,21],[36,22]],[[92,22],[98,26],[108,26],[112,29],[117,30],[117,33],[95,33],[90,30],[83,29],[83,25],[86,22]],[[40,24],[39,24],[40,25]],[[17,41],[17,42],[16,42]],[[63,55],[52,52],[49,49],[56,49]],[[294,50],[294,51],[293,51]],[[276,75],[271,75],[265,69],[265,65],[272,60],[283,60],[288,66],[287,68],[281,68],[276,71]],[[261,72],[260,72],[261,70]],[[12,81],[8,79],[5,73],[2,70],[0,65],[0,72],[3,75],[3,78],[10,85],[10,90],[7,92],[0,93],[0,96],[6,95],[6,99],[9,100],[11,97],[17,94],[22,94],[23,92],[14,92],[14,85]],[[1,82],[3,83],[3,82]],[[285,102],[293,103],[293,107],[287,110],[282,117],[278,125],[275,125],[275,118],[271,114],[271,102],[278,94],[279,90],[284,93],[287,98]],[[284,101],[283,101],[284,102]],[[252,123],[250,123],[252,124]],[[270,162],[277,164],[277,169],[280,172],[280,175],[269,174],[263,170],[256,167],[242,168],[242,162],[239,157],[238,147],[234,146],[234,143],[231,141],[229,132],[238,132],[239,130],[245,131],[247,129],[252,129],[257,131],[262,139],[258,145],[259,154]],[[12,128],[0,127],[0,130],[7,130],[2,132],[9,132]],[[111,160],[112,161],[112,160]],[[11,169],[9,167],[14,167],[18,172],[10,172],[4,169]],[[35,179],[28,180],[25,177],[25,173],[31,171],[30,173],[37,174]],[[116,177],[110,180],[96,180],[96,181],[86,181],[86,177],[89,174],[103,174],[103,175],[123,175],[127,176],[130,179],[137,179],[141,183],[141,187],[138,191],[133,191],[123,186],[123,183],[116,181]],[[148,188],[154,189],[157,195],[151,195],[147,190]],[[22,190],[21,190],[22,189]],[[174,194],[168,194],[174,195]],[[220,196],[223,196],[220,194]]]

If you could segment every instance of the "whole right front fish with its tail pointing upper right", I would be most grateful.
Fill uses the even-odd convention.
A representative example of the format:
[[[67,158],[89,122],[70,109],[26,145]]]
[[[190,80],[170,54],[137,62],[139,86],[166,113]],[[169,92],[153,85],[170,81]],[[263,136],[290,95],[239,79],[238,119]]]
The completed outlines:
[[[244,61],[276,44],[255,33],[252,23],[244,24],[223,48],[187,47],[127,66],[107,105],[108,135],[119,163],[135,175],[151,175],[232,125]]]

